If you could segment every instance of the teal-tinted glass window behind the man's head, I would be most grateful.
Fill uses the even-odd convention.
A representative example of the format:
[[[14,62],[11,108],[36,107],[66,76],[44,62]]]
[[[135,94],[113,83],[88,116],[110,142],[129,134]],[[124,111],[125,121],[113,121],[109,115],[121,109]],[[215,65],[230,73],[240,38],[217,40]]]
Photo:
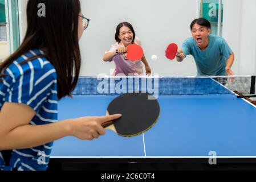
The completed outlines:
[[[200,0],[200,17],[209,20],[212,34],[222,36],[223,0]]]

